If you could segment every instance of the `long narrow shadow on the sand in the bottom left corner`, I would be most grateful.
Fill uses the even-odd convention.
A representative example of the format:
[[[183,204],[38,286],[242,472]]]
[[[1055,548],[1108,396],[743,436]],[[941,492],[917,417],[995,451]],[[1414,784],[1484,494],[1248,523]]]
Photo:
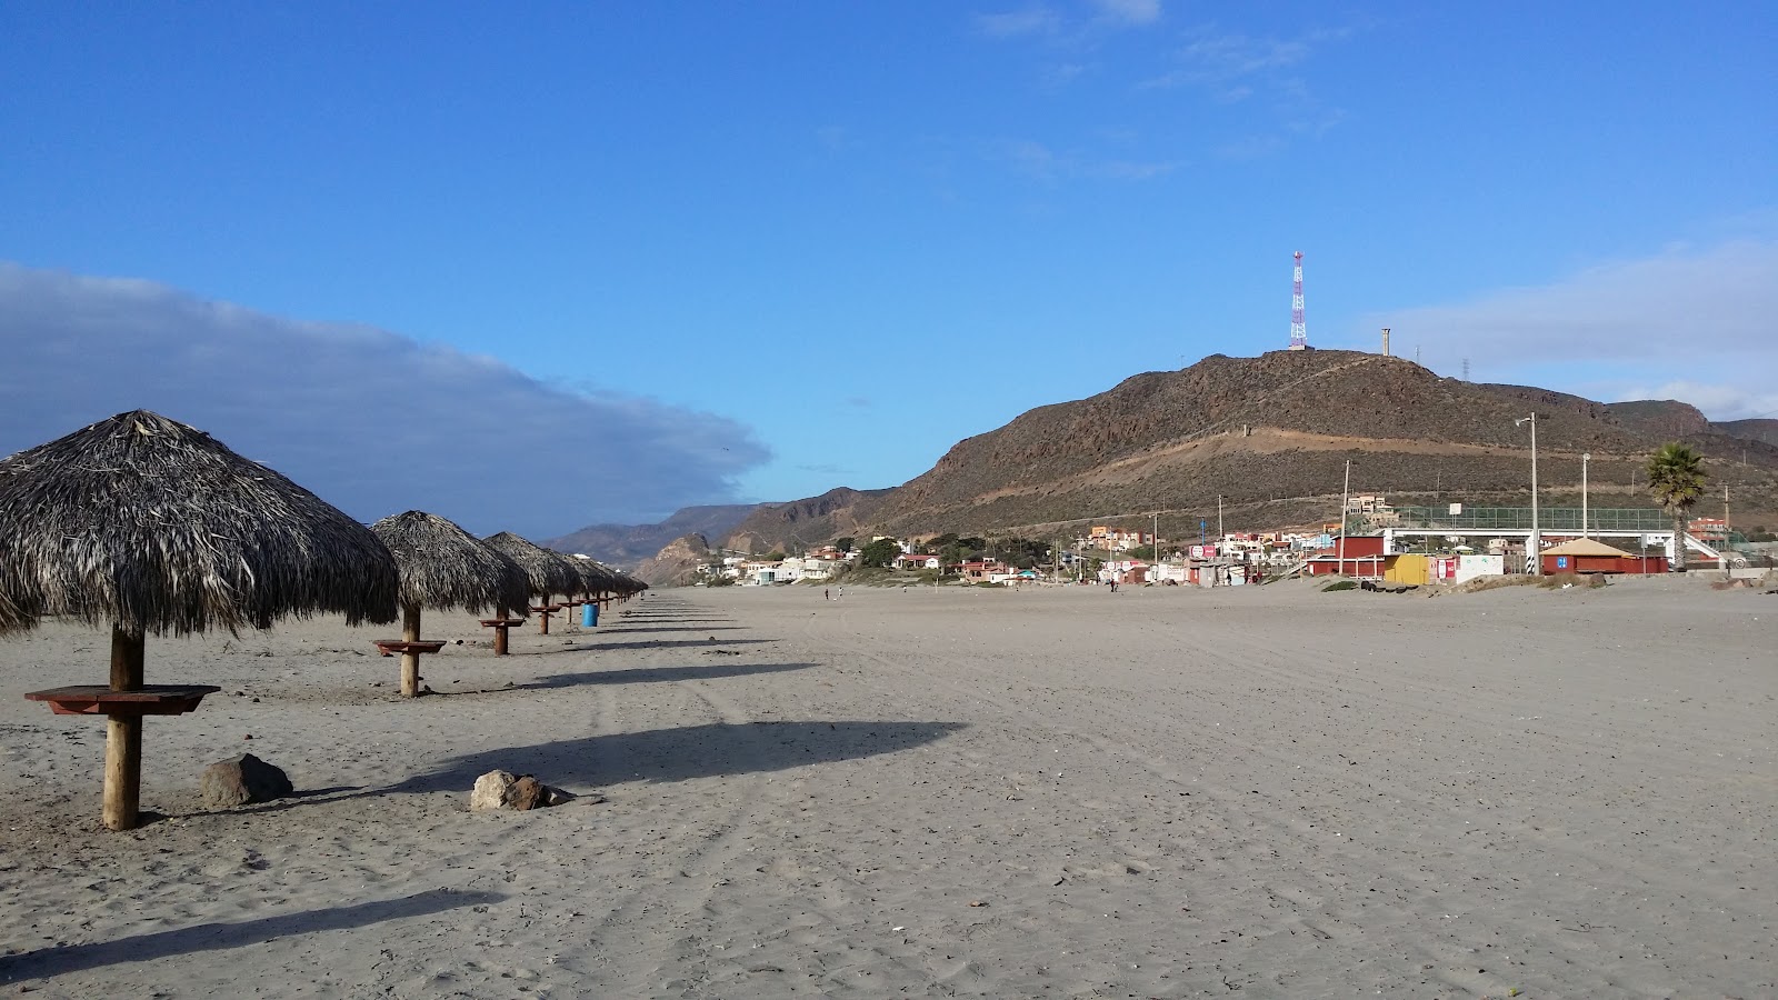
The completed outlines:
[[[36,952],[0,957],[0,982],[48,979],[52,975],[82,972],[116,963],[140,963],[171,956],[188,956],[194,952],[220,952],[245,945],[260,945],[263,941],[270,941],[272,938],[288,938],[292,934],[309,934],[315,931],[372,927],[386,920],[423,916],[464,906],[484,906],[503,899],[507,897],[491,891],[427,890],[402,899],[331,906],[327,909],[309,909],[304,913],[286,913],[283,916],[242,920],[240,923],[199,923],[196,927],[181,927],[178,931],[135,934],[116,941],[94,941],[91,945],[69,945],[66,948],[37,948]]]

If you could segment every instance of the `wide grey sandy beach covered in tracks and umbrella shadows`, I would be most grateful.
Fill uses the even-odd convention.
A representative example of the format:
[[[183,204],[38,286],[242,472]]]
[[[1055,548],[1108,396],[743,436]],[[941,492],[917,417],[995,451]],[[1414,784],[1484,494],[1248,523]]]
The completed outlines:
[[[0,641],[0,991],[1773,996],[1778,596],[725,587],[149,639],[142,806]],[[455,644],[455,641],[462,644]],[[249,738],[251,737],[251,738]],[[242,751],[297,795],[204,811]],[[576,801],[469,813],[475,778]]]

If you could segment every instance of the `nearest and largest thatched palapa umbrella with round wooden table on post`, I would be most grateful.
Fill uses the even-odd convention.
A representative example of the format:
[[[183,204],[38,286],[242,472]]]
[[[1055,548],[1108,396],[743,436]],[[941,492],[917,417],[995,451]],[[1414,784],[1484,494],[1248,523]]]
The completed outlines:
[[[0,632],[50,614],[112,626],[108,689],[34,692],[107,715],[110,829],[137,822],[142,714],[185,712],[217,690],[144,687],[146,635],[318,612],[384,623],[395,598],[395,557],[370,528],[158,413],[119,413],[0,461]]]

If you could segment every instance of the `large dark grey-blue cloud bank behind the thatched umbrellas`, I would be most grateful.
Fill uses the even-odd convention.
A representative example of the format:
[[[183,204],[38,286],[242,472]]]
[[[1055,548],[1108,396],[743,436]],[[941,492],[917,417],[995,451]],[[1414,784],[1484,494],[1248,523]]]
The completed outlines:
[[[551,537],[733,498],[768,459],[725,418],[151,281],[0,263],[0,454],[153,409],[366,521],[421,509]]]

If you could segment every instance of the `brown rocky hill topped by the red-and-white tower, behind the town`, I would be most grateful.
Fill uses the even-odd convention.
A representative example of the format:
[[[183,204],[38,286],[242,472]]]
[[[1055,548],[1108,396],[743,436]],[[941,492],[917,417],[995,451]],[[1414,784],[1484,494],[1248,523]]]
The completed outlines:
[[[1529,504],[1529,429],[1515,420],[1533,411],[1545,504],[1579,505],[1586,452],[1595,505],[1646,507],[1632,475],[1654,447],[1678,438],[1718,459],[1712,488],[1732,484],[1739,523],[1778,521],[1778,447],[1712,425],[1687,404],[1602,404],[1446,379],[1401,358],[1278,351],[1218,354],[1024,413],[960,441],[861,528],[1067,536],[1159,512],[1163,536],[1177,536],[1214,518],[1218,496],[1230,527],[1271,528],[1330,516],[1348,459],[1353,493]],[[1748,466],[1723,461],[1744,447]]]

